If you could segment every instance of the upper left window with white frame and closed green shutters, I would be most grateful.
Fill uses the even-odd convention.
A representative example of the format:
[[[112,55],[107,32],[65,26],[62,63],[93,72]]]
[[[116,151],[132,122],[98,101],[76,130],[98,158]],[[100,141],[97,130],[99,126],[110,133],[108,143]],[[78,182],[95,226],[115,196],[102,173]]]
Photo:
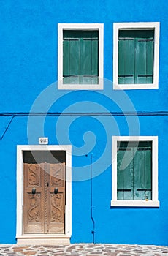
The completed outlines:
[[[103,89],[103,25],[58,24],[58,89]]]

